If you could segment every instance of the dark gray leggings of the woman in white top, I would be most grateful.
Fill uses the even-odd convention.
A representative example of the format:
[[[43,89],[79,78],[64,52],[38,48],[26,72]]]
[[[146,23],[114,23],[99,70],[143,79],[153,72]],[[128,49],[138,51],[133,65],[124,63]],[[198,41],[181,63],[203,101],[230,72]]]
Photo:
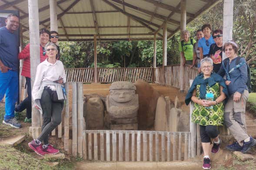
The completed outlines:
[[[45,89],[43,90],[40,103],[43,109],[43,125],[42,133],[37,140],[43,142],[43,144],[49,144],[49,134],[61,122],[63,103],[52,102],[49,93]]]

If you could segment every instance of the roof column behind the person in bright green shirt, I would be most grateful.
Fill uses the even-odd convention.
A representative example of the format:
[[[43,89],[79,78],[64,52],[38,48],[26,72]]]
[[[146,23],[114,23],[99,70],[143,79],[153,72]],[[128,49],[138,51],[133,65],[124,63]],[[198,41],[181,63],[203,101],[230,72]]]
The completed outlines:
[[[186,29],[186,0],[180,1],[180,37],[182,37],[182,31]],[[184,92],[184,70],[183,59],[180,56],[180,92]]]

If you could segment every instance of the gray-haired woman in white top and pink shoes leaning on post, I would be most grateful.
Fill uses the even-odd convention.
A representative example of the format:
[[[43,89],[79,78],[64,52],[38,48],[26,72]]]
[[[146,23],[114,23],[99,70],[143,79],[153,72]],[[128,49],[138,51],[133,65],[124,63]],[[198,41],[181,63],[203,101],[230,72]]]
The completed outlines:
[[[62,62],[56,60],[57,46],[53,42],[48,42],[45,49],[48,58],[37,66],[32,90],[33,107],[43,116],[42,133],[28,144],[40,156],[59,152],[49,144],[49,134],[61,122],[61,111],[66,99],[62,88],[62,84],[66,82],[66,75]]]

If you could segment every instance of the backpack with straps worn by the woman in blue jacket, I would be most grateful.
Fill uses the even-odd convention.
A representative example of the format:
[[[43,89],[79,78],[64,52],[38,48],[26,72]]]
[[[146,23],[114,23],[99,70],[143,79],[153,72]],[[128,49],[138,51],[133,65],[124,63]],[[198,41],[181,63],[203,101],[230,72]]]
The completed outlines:
[[[246,85],[247,85],[247,88],[248,88],[248,92],[252,92],[252,84],[251,84],[251,70],[250,70],[250,67],[249,65],[247,64],[247,62],[240,62],[240,59],[241,57],[236,57],[236,66],[234,67],[234,69],[238,69],[240,66],[246,64],[247,66],[247,82],[246,82]],[[229,76],[227,70],[226,70],[226,66],[229,64],[229,59],[224,59],[223,62],[223,69],[225,70],[226,72],[226,75]],[[231,70],[229,72],[232,72]]]

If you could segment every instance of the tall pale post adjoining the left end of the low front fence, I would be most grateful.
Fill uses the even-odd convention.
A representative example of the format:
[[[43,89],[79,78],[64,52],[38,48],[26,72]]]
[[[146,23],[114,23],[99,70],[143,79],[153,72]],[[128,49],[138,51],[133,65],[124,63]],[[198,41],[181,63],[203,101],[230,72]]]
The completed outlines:
[[[83,83],[77,83],[77,153],[83,157]],[[95,147],[95,146],[94,146]]]

